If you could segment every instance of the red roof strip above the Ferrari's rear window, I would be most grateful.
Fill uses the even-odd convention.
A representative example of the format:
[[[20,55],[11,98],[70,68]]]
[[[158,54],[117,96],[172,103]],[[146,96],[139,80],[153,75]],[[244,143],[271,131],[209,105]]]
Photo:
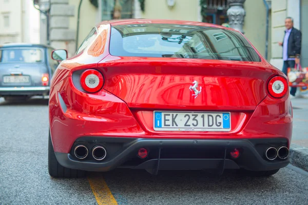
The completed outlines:
[[[217,25],[217,24],[209,24],[209,23],[204,23],[204,22],[191,22],[188,20],[170,20],[170,19],[127,18],[127,19],[106,20],[104,22],[101,22],[99,25],[102,25],[102,24],[110,24],[111,26],[128,25],[128,24],[180,24],[180,25],[215,27],[215,28],[236,31],[233,28],[228,28],[225,26]]]

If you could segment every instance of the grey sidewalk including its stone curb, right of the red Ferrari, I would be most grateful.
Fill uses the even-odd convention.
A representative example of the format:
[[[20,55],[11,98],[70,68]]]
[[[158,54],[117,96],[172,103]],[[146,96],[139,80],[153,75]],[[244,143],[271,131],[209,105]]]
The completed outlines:
[[[293,133],[290,147],[292,165],[308,171],[308,95],[291,99]]]

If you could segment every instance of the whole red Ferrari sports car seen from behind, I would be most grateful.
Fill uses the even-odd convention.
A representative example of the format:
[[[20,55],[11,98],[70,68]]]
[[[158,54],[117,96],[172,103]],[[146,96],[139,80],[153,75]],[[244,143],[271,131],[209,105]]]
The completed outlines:
[[[240,32],[180,20],[95,26],[50,87],[49,174],[115,168],[237,169],[273,175],[289,163],[286,76]]]

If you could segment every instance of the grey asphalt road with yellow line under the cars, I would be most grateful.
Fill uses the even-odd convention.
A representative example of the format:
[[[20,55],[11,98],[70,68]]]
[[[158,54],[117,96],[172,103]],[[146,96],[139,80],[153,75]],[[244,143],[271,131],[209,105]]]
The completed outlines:
[[[47,99],[0,98],[0,204],[308,204],[308,173],[292,166],[268,178],[119,169],[54,179],[47,144]]]

